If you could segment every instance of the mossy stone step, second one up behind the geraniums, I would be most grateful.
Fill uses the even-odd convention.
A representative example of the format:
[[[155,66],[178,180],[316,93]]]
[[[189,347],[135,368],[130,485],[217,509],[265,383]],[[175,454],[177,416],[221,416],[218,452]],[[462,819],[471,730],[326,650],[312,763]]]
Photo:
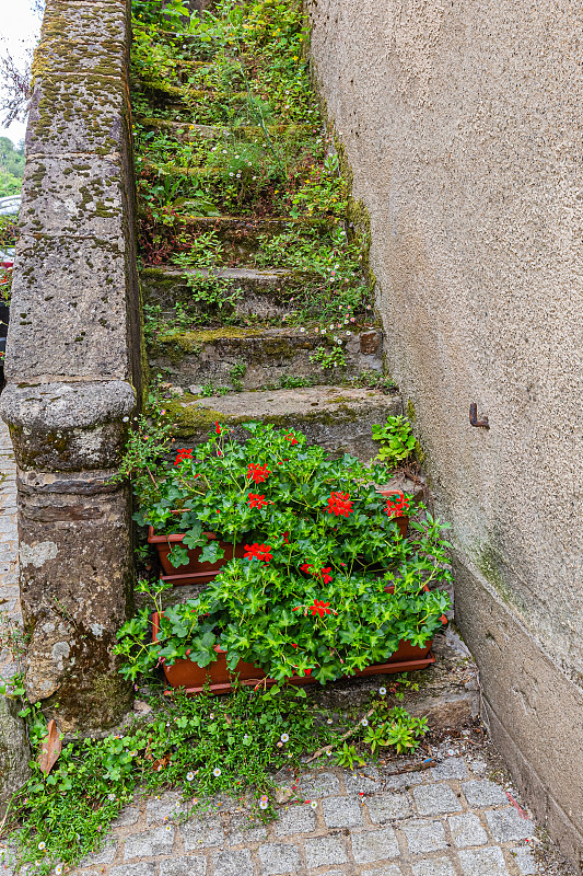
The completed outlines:
[[[345,326],[342,326],[345,327]],[[336,334],[338,332],[338,334]],[[337,338],[335,341],[334,338]],[[301,328],[235,328],[170,331],[160,334],[148,348],[150,367],[182,389],[207,384],[258,390],[273,387],[288,376],[312,383],[333,383],[362,371],[383,369],[382,334],[335,330],[322,335]],[[327,365],[312,357],[340,351],[345,364]]]

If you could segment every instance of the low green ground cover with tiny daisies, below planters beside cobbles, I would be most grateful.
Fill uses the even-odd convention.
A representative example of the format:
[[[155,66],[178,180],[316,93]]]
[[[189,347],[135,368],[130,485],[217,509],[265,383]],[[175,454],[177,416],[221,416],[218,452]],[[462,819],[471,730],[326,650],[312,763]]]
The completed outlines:
[[[136,721],[124,734],[68,742],[46,777],[31,761],[33,775],[11,806],[20,822],[12,840],[21,863],[37,862],[37,874],[48,874],[57,862],[74,866],[100,846],[138,791],[176,787],[186,799],[247,793],[257,815],[271,817],[271,802],[266,810],[257,804],[260,795],[271,797],[272,773],[300,765],[304,751],[333,739],[303,691],[240,688],[228,696],[194,699],[175,692],[153,698],[151,705],[148,721]],[[37,750],[45,722],[33,713],[30,734]]]

